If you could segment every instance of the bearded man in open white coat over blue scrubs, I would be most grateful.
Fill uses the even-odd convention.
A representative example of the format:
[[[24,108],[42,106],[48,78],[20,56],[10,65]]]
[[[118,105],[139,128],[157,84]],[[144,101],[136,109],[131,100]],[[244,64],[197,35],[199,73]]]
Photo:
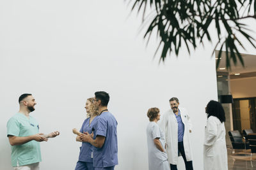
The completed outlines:
[[[171,110],[164,113],[159,126],[165,134],[166,152],[171,170],[177,169],[178,157],[184,159],[186,170],[193,170],[189,133],[192,130],[191,120],[185,108],[179,108],[179,99],[172,97]]]

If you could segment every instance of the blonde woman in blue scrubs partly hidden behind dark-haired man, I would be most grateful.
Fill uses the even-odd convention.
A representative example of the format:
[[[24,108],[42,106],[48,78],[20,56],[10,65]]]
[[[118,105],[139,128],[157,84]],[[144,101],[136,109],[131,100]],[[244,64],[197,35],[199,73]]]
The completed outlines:
[[[87,112],[87,118],[84,120],[83,125],[79,132],[88,133],[93,135],[93,124],[96,122],[97,112],[93,109],[92,99],[89,98],[86,101],[85,109]],[[92,166],[92,145],[90,143],[83,142],[79,135],[76,137],[76,141],[82,142],[82,146],[80,147],[79,159],[76,164],[75,170],[94,170]]]

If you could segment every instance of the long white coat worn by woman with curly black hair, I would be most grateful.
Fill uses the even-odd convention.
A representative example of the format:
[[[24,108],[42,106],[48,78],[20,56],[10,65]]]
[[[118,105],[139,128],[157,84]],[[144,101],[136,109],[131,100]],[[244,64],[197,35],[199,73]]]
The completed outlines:
[[[204,169],[227,170],[226,130],[224,122],[217,117],[209,117],[205,127]]]

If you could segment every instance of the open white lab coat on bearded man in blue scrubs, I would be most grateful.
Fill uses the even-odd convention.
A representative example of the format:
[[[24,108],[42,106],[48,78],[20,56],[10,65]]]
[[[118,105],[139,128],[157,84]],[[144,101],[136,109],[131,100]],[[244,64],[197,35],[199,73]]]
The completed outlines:
[[[192,160],[191,145],[189,141],[189,130],[192,131],[191,120],[185,108],[179,108],[180,116],[184,124],[183,144],[186,160]],[[166,111],[160,118],[159,126],[163,130],[166,138],[166,152],[170,164],[178,164],[178,122],[172,109]],[[180,156],[180,155],[179,155]]]

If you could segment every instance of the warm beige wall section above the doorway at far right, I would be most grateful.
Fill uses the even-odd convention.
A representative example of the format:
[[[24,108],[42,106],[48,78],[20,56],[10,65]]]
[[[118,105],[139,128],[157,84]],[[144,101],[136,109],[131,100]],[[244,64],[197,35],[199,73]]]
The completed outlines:
[[[234,79],[230,81],[230,89],[234,98],[256,97],[256,78]]]

